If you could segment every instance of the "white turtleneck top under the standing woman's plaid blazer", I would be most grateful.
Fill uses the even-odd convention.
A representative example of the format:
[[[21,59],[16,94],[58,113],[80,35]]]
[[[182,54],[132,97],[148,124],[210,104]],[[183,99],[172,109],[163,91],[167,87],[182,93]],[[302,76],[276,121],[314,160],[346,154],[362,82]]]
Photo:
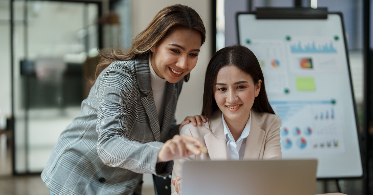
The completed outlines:
[[[151,66],[149,55],[149,70],[150,70],[150,83],[151,83],[151,91],[153,91],[153,99],[154,103],[156,104],[157,114],[159,125],[162,126],[163,121],[163,111],[164,111],[164,101],[166,100],[166,79],[160,78],[156,72],[154,72],[153,66]]]

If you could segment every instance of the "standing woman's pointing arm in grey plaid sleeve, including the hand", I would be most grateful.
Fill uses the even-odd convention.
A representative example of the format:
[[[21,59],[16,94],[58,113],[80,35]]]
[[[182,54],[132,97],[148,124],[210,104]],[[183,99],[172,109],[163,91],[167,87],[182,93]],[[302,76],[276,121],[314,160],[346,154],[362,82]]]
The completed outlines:
[[[118,63],[118,62],[114,62]],[[206,148],[197,138],[176,135],[162,142],[130,141],[127,128],[128,104],[137,104],[132,94],[137,88],[135,72],[110,65],[96,83],[97,91],[97,153],[108,166],[120,167],[136,173],[168,175],[174,159],[200,154],[194,144]]]

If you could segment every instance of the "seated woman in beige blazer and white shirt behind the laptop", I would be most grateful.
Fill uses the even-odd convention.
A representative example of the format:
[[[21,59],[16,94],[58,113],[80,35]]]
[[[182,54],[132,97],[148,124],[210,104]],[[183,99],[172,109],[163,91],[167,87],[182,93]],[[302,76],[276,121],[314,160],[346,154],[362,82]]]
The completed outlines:
[[[281,159],[281,121],[269,104],[264,77],[247,47],[222,48],[206,70],[202,126],[185,125],[180,135],[200,139],[207,153],[175,160],[172,193],[181,192],[182,163],[186,160]]]

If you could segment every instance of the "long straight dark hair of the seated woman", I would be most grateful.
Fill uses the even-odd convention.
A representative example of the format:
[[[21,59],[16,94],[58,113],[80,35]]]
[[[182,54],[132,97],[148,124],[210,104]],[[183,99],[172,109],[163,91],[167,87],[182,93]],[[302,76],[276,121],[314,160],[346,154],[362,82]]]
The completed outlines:
[[[267,98],[264,76],[263,72],[261,72],[258,59],[249,48],[241,45],[232,45],[217,51],[207,66],[203,91],[202,115],[211,119],[213,113],[219,108],[214,98],[214,89],[217,73],[225,66],[236,66],[248,73],[251,78],[253,78],[255,85],[258,84],[260,79],[260,92],[254,100],[253,108],[257,112],[275,114]],[[209,125],[211,130],[211,120],[209,120]]]

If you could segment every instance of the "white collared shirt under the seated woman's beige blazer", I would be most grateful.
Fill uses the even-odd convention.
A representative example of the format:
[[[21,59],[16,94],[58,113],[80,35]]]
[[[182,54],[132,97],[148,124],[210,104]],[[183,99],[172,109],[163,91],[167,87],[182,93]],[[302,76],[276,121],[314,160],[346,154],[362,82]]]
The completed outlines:
[[[234,140],[231,131],[226,125],[223,113],[222,113],[222,119],[223,119],[225,141],[227,143],[228,159],[230,160],[242,159],[245,153],[246,138],[250,134],[251,111],[250,111],[250,117],[247,120],[245,128],[242,131],[241,136],[237,139],[237,141]]]

